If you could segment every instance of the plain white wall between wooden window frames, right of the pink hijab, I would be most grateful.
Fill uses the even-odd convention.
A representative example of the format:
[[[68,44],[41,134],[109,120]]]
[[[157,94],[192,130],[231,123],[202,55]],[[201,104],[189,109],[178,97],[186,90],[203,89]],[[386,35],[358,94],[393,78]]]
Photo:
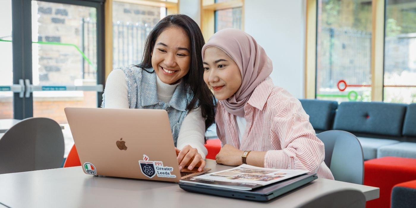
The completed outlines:
[[[274,84],[304,98],[306,1],[245,0],[244,9],[244,30],[272,59]]]

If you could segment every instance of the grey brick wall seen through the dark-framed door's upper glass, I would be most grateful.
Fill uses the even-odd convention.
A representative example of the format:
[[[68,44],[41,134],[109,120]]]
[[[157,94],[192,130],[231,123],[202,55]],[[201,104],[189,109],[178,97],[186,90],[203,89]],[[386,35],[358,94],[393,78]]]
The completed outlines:
[[[37,32],[38,42],[54,42],[55,44],[33,45],[34,53],[37,53],[39,57],[35,60],[38,62],[37,68],[33,67],[34,74],[38,74],[34,77],[34,82],[38,79],[41,85],[73,85],[76,79],[83,78],[83,64],[84,69],[95,71],[94,67],[97,65],[96,29],[84,27],[84,33],[82,33],[82,19],[95,22],[96,9],[42,1],[37,1],[36,4],[37,15],[34,18],[37,18],[37,21],[33,25],[33,30]],[[92,66],[73,46],[82,50],[83,39],[84,54],[92,62]],[[96,79],[96,76],[89,78]]]

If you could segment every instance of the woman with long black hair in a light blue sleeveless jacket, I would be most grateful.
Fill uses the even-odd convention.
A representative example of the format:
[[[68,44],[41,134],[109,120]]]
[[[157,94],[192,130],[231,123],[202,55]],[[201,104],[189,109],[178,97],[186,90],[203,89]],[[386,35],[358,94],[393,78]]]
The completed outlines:
[[[205,166],[205,131],[213,124],[215,102],[203,82],[201,30],[186,15],[168,15],[146,40],[142,62],[108,76],[102,107],[165,109],[179,169]]]

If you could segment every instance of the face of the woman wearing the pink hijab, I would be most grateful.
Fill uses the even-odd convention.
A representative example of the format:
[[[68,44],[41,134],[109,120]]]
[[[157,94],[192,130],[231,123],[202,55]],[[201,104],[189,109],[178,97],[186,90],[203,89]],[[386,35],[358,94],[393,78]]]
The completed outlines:
[[[213,89],[215,98],[225,100],[233,96],[242,83],[240,69],[225,52],[207,47],[203,57],[204,81]]]

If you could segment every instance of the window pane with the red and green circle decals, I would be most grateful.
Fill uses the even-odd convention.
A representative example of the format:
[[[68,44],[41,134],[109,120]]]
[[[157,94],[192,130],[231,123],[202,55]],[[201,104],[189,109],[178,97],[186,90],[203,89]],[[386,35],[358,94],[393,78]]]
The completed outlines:
[[[319,0],[316,97],[371,101],[371,1]]]

